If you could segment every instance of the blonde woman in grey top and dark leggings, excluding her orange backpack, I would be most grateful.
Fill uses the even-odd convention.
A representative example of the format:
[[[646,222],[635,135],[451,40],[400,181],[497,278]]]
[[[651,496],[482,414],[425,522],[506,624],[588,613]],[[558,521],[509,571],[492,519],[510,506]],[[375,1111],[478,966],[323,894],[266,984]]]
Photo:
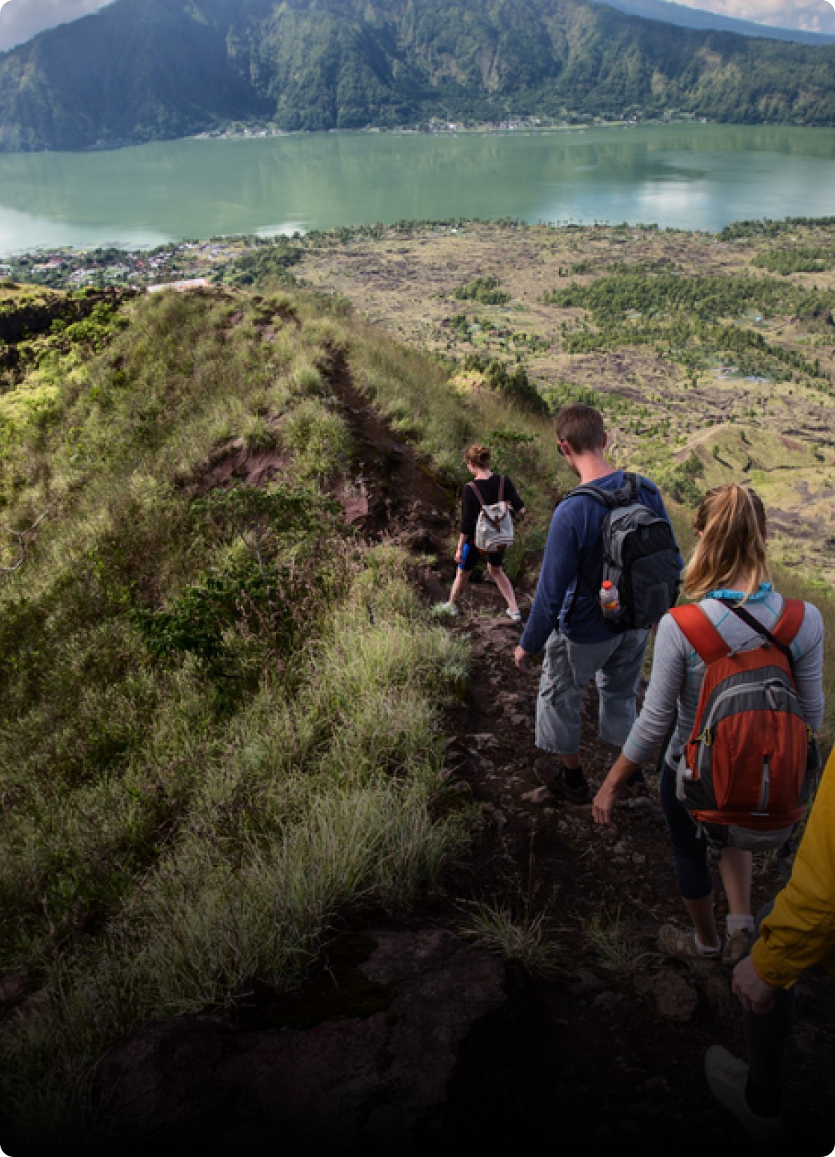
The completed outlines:
[[[685,570],[685,595],[700,606],[736,651],[762,646],[762,636],[731,610],[745,605],[766,628],[775,626],[784,598],[770,582],[766,560],[766,511],[758,495],[736,484],[705,494],[696,513],[699,541]],[[823,718],[823,622],[810,603],[791,644],[795,684],[806,723],[816,730]],[[724,950],[714,914],[714,882],[707,841],[675,795],[675,767],[696,717],[705,665],[672,616],[658,626],[652,677],[644,706],[623,750],[600,790],[593,811],[598,824],[613,826],[612,811],[623,784],[670,735],[660,795],[670,831],[675,877],[693,921],[688,935],[665,924],[659,944],[671,956],[722,958],[733,964],[747,955],[753,935],[751,853],[724,848],[719,875],[729,905]]]

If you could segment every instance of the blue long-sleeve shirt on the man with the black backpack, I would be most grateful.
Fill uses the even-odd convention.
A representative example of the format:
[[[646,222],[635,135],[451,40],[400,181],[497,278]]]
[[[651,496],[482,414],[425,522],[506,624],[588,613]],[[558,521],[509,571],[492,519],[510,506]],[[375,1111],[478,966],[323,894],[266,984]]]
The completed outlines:
[[[606,491],[620,489],[622,485],[622,470],[594,479],[594,486]],[[641,479],[638,499],[670,522],[658,487],[646,478]],[[537,594],[520,640],[530,655],[539,654],[557,627],[571,642],[599,643],[612,638],[604,622],[598,594],[604,554],[600,532],[607,514],[606,507],[588,494],[569,494],[554,511]],[[683,566],[681,555],[679,561]],[[584,581],[567,622],[566,612],[574,603],[581,570]]]

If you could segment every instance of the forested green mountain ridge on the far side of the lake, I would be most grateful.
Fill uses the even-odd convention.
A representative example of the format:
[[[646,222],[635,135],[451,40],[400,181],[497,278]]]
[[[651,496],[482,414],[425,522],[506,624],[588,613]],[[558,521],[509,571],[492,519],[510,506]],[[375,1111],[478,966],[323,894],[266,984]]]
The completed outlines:
[[[116,0],[0,56],[7,152],[242,124],[671,112],[833,125],[835,44],[673,27],[583,0]]]

